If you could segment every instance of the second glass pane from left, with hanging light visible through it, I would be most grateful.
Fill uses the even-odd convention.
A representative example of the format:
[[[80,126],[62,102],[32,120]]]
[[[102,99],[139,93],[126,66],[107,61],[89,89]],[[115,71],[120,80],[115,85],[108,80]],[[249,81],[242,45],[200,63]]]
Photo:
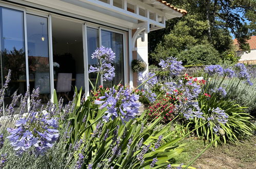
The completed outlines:
[[[27,14],[30,90],[39,88],[41,99],[50,99],[48,18]]]

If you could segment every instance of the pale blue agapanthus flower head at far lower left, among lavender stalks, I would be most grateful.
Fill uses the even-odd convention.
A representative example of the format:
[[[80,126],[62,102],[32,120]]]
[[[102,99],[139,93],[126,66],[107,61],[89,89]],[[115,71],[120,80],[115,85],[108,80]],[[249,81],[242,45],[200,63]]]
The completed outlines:
[[[58,124],[55,118],[49,118],[46,112],[33,112],[27,117],[16,120],[17,128],[8,128],[11,134],[7,138],[14,147],[17,155],[22,155],[34,148],[36,155],[44,155],[57,140]]]

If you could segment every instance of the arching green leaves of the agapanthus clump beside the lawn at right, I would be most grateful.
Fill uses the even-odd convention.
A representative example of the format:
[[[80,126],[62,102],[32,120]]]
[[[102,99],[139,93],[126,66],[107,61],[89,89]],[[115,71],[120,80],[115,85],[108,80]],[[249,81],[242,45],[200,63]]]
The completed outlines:
[[[212,108],[220,108],[225,110],[225,113],[228,114],[228,121],[226,124],[220,123],[220,127],[225,131],[226,135],[222,136],[218,142],[226,143],[226,140],[231,142],[240,141],[240,139],[245,139],[248,136],[252,136],[252,132],[255,130],[255,126],[250,122],[252,117],[248,113],[244,113],[244,107],[240,107],[239,104],[235,104],[232,101],[227,101],[220,99],[216,95],[212,95],[210,98],[201,95],[199,97],[199,105],[201,111],[204,113],[204,117],[209,117],[211,115],[211,111],[209,109]],[[198,126],[204,124],[207,119],[199,119],[195,118],[191,121],[190,126],[192,128],[197,128]],[[218,135],[214,134],[213,128],[215,124],[212,121],[204,124],[196,133],[198,136],[204,140],[212,141]],[[215,142],[215,145],[217,142]]]

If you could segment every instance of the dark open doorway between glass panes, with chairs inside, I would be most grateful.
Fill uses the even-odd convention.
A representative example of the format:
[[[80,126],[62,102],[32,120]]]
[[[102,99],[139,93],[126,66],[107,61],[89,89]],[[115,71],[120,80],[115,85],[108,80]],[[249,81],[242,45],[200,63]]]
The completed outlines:
[[[85,90],[83,24],[52,17],[54,88],[58,97],[71,100],[74,87]]]

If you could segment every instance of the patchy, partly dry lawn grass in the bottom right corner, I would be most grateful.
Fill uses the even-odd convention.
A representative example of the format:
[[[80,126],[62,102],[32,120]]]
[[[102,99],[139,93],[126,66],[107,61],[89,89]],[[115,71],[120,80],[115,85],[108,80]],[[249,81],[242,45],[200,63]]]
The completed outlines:
[[[173,159],[173,163],[189,163],[207,144],[203,140],[187,138],[185,152]],[[179,143],[179,144],[180,144]],[[224,144],[210,147],[192,166],[196,168],[255,168],[256,136],[238,144]]]

